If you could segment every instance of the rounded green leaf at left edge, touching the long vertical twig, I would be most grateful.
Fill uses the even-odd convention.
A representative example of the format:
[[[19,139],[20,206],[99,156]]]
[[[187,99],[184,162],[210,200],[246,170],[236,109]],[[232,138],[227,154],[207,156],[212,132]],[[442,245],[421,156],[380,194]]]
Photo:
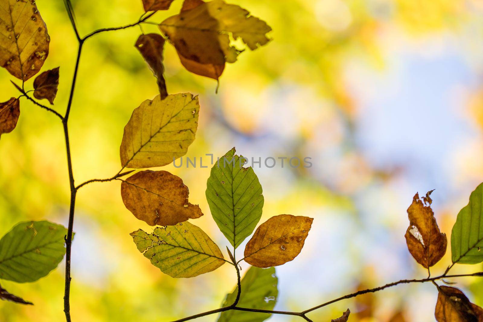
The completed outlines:
[[[24,283],[49,274],[64,258],[66,235],[48,221],[17,224],[0,239],[0,279]]]

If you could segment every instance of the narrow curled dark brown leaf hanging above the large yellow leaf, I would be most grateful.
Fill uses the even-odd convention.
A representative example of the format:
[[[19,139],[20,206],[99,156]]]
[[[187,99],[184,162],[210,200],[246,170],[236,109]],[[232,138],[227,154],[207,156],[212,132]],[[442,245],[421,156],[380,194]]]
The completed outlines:
[[[139,50],[142,57],[149,66],[149,69],[153,72],[157,79],[157,87],[159,88],[159,94],[161,99],[168,96],[166,90],[166,82],[164,81],[163,73],[163,46],[164,38],[156,33],[142,34],[136,41],[135,47]]]

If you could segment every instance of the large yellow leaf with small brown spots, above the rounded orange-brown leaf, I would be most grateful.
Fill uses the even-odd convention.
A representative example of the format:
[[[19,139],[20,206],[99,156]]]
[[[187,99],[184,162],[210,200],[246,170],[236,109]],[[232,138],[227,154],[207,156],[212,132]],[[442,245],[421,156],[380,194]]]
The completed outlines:
[[[122,167],[161,167],[185,155],[195,140],[198,115],[198,97],[189,93],[142,102],[124,127]]]

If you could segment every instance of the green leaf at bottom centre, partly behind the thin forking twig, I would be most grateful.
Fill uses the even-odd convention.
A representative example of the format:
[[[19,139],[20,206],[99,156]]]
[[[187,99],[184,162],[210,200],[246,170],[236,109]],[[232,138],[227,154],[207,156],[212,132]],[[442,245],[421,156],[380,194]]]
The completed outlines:
[[[256,308],[272,310],[277,302],[277,282],[275,267],[250,267],[241,280],[241,295],[237,306],[241,308]],[[237,297],[238,286],[227,294],[223,307],[233,304]],[[270,318],[271,314],[247,311],[229,310],[222,312],[218,322],[262,322]]]

